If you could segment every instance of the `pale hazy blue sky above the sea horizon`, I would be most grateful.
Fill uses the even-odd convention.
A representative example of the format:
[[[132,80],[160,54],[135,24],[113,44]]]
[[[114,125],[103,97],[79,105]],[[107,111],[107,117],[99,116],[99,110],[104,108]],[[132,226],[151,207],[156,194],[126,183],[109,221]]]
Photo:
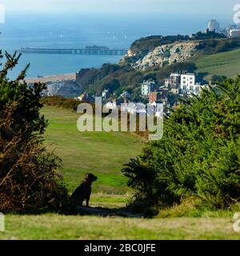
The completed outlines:
[[[232,14],[239,0],[0,0],[6,12]]]

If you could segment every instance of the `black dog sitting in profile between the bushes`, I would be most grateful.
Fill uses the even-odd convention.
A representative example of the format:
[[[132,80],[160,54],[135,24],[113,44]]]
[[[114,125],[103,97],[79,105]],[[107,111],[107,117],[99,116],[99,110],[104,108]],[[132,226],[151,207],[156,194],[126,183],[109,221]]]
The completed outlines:
[[[91,185],[97,179],[94,174],[86,174],[81,185],[71,195],[71,201],[75,205],[82,206],[83,201],[86,200],[86,206],[89,207],[90,194],[92,193]]]

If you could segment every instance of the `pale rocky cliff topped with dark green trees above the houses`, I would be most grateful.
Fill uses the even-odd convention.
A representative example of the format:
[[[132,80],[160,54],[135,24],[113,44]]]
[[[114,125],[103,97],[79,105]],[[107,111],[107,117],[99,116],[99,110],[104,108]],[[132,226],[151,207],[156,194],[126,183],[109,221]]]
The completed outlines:
[[[159,69],[162,66],[188,61],[189,58],[218,54],[239,48],[240,38],[226,38],[214,32],[187,35],[151,36],[133,42],[119,64],[135,70]]]

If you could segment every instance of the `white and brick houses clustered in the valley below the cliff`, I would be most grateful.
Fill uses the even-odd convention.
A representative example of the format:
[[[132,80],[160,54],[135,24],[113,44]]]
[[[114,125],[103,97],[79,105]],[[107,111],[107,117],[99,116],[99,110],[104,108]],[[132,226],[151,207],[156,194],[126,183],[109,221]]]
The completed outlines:
[[[169,102],[170,94],[175,94],[176,98],[183,95],[192,97],[201,94],[202,89],[208,88],[209,85],[204,84],[196,74],[182,71],[181,73],[170,74],[162,86],[159,86],[153,79],[143,81],[141,86],[142,90],[139,96],[142,101],[140,103],[131,103],[131,94],[128,91],[123,91],[118,98],[114,98],[114,94],[110,94],[110,90],[104,89],[102,91],[104,108],[127,111],[130,114],[146,114],[146,105],[141,102],[148,102],[149,106],[153,106],[155,114],[157,114],[159,104],[162,104],[164,112],[168,113],[170,107],[179,104],[178,100],[174,104],[172,101]],[[94,95],[85,93],[79,96],[78,100],[94,102],[94,98]]]

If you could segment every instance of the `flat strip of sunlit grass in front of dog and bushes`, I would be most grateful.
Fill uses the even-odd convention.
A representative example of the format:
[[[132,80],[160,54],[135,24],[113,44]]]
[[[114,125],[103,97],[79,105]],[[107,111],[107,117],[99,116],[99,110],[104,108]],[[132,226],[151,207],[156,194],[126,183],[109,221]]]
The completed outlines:
[[[240,239],[231,218],[6,216],[2,239]]]

